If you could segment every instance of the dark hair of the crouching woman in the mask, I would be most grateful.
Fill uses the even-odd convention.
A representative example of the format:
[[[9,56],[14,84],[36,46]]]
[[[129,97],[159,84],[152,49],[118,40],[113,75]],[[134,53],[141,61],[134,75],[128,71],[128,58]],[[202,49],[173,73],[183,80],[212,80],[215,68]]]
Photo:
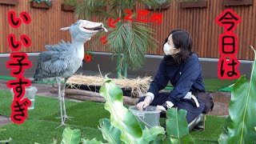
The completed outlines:
[[[186,62],[186,60],[190,57],[190,54],[192,54],[192,38],[190,34],[185,30],[172,30],[170,34],[172,34],[175,48],[180,48],[180,52],[178,54],[174,54],[170,57],[173,57],[174,61],[178,64]],[[168,37],[170,36],[170,34],[168,35]],[[168,37],[166,38],[164,43],[168,41]]]

